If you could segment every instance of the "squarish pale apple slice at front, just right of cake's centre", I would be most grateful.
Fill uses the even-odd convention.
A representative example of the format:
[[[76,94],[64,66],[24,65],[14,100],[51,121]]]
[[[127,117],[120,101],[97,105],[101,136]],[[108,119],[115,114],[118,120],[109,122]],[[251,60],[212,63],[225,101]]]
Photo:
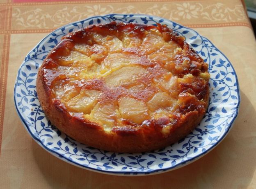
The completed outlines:
[[[123,119],[129,119],[135,124],[142,124],[142,121],[149,119],[146,103],[130,97],[122,97],[118,101],[119,112]]]

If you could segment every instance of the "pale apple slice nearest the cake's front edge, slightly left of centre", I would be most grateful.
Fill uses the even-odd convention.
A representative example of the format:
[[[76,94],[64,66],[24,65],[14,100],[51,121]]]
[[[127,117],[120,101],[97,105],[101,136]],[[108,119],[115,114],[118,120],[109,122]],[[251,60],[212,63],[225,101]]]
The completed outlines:
[[[101,122],[105,130],[112,128],[117,118],[120,118],[117,103],[112,102],[97,103],[90,115],[96,121]]]

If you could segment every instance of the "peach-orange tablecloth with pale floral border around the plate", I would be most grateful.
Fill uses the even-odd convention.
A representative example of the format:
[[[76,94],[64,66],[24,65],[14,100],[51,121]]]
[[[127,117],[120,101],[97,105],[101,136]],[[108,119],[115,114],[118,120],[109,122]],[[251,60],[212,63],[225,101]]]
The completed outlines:
[[[121,177],[54,157],[23,127],[13,89],[26,54],[49,32],[110,13],[161,16],[195,29],[233,64],[240,112],[227,137],[201,159],[174,171]],[[256,41],[241,0],[0,0],[0,188],[256,188]]]

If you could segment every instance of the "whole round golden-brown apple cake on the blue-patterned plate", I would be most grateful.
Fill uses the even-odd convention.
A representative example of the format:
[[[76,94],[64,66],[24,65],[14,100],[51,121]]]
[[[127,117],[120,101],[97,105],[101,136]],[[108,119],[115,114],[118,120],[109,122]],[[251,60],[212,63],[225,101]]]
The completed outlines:
[[[165,25],[108,23],[64,36],[37,77],[41,106],[73,139],[107,151],[163,148],[208,108],[208,65]]]

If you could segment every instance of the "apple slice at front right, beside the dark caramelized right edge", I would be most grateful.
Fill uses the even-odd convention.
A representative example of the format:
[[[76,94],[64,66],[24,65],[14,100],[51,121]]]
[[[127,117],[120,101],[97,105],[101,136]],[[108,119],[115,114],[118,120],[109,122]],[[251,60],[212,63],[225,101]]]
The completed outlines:
[[[159,108],[167,108],[172,107],[172,105],[176,102],[175,99],[171,98],[169,94],[166,92],[158,92],[154,95],[154,97],[147,103],[149,110],[154,112]]]

